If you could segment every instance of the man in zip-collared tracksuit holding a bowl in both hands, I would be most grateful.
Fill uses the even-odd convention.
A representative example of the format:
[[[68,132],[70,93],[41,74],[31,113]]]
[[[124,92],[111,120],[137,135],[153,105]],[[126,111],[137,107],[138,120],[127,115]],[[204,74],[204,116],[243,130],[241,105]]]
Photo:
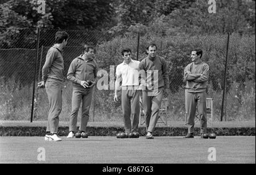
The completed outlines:
[[[82,116],[79,130],[86,131],[89,120],[90,104],[92,102],[93,86],[96,84],[97,63],[93,59],[94,48],[85,45],[84,55],[80,55],[71,62],[68,69],[68,80],[73,82],[72,111],[69,119],[69,134],[67,138],[73,138],[77,130],[77,115],[82,102]],[[92,83],[90,85],[90,83]]]

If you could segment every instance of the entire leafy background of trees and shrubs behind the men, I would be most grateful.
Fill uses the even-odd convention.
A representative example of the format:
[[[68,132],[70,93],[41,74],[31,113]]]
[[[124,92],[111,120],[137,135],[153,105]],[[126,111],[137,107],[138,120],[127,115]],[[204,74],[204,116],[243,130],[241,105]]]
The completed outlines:
[[[214,119],[220,119],[229,32],[226,120],[255,120],[255,1],[220,0],[216,6],[216,14],[209,14],[205,0],[48,0],[46,13],[39,14],[34,0],[0,0],[0,120],[30,119],[36,27],[40,27],[38,58],[42,58],[37,81],[60,28],[70,35],[63,52],[65,75],[83,44],[96,46],[98,65],[109,72],[111,65],[122,62],[122,48],[131,48],[137,59],[138,32],[138,60],[146,56],[149,43],[156,43],[168,62],[171,121],[184,120],[183,71],[196,48],[203,49],[203,60],[210,66],[207,97],[214,99]],[[122,120],[121,102],[115,103],[113,94],[113,90],[96,90],[91,120]],[[66,81],[61,120],[69,118],[71,99],[72,85]],[[46,120],[47,113],[46,91],[36,89],[34,119]]]

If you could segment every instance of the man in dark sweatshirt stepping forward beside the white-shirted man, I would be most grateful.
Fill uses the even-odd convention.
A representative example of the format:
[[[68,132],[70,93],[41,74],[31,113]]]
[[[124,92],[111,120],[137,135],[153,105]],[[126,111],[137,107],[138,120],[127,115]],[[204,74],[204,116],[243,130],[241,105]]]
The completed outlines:
[[[156,50],[156,45],[151,44],[147,48],[148,56],[139,63],[139,80],[142,85],[142,101],[147,130],[146,139],[153,139],[152,132],[158,122],[162,98],[168,96],[170,88],[166,60],[156,55]]]

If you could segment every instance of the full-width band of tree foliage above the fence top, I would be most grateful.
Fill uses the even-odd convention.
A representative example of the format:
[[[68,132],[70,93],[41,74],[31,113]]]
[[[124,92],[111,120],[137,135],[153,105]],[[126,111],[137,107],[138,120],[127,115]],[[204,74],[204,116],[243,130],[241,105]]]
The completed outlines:
[[[210,14],[205,0],[47,0],[41,14],[37,0],[1,0],[0,45],[14,47],[24,27],[108,30],[113,36],[255,34],[255,1],[220,0],[216,6]]]

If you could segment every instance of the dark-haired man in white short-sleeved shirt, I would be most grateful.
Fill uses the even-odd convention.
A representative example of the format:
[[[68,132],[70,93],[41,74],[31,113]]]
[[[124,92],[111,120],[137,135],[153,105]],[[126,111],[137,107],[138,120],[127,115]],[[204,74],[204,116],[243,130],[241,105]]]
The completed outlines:
[[[114,101],[122,80],[122,110],[125,132],[138,132],[139,124],[139,61],[131,59],[131,49],[123,49],[123,62],[117,66]],[[132,122],[130,120],[132,119]],[[132,123],[132,124],[131,124]]]

